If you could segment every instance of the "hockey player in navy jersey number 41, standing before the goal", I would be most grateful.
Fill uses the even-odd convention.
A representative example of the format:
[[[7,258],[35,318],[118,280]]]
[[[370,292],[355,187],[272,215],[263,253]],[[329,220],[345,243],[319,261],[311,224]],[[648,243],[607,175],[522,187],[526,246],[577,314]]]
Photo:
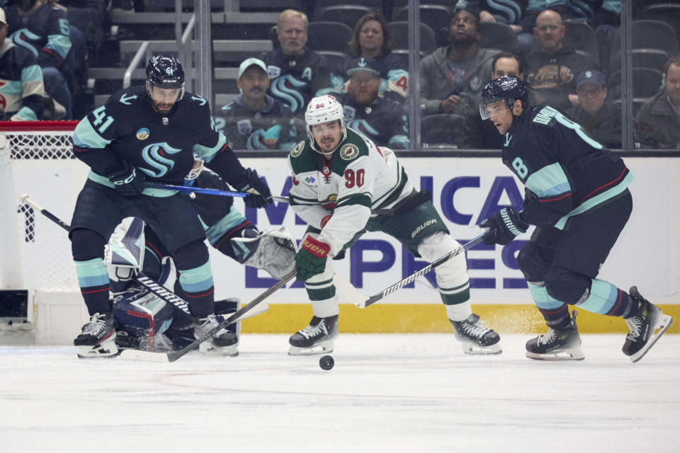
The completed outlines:
[[[208,101],[184,93],[184,73],[177,59],[152,57],[145,86],[119,91],[89,113],[74,131],[73,149],[91,168],[70,232],[79,285],[91,316],[74,340],[79,356],[118,352],[103,249],[124,217],[145,220],[171,252],[191,313],[200,319],[196,334],[215,325],[203,225],[188,197],[145,188],[144,180],[183,183],[196,153],[234,188],[251,193],[246,205],[263,207],[272,198],[256,171],[244,168],[225,137],[215,132]],[[219,350],[229,341],[222,330],[210,345]]]

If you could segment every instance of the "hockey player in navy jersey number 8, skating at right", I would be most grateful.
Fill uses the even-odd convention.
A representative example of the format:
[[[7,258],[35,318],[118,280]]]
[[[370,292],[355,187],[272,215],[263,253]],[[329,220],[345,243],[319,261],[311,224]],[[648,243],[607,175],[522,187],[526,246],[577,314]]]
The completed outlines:
[[[487,84],[480,114],[504,134],[503,163],[524,183],[524,209],[506,207],[482,221],[487,244],[504,245],[536,225],[517,257],[548,333],[526,343],[539,360],[582,360],[576,311],[621,316],[630,332],[623,353],[637,362],[672,323],[633,286],[628,292],[597,277],[628,222],[633,175],[620,157],[591,139],[560,110],[527,105],[517,77]]]

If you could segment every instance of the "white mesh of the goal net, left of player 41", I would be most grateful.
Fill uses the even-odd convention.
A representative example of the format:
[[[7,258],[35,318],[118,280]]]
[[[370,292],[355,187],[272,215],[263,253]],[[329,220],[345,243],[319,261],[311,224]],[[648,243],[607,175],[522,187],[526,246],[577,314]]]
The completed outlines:
[[[18,201],[21,195],[29,195],[63,222],[71,222],[77,194],[87,175],[86,166],[72,153],[74,124],[35,122],[33,130],[7,127],[11,126],[2,125],[0,134],[6,136],[10,147],[23,286],[47,291],[77,289],[67,231]],[[59,130],[36,130],[40,127]]]

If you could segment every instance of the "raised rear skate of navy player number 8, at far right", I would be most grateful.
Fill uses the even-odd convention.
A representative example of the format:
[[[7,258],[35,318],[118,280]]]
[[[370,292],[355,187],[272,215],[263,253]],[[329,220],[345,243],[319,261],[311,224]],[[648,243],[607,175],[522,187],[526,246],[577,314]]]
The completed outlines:
[[[639,308],[631,318],[625,320],[630,331],[625,336],[623,353],[630,357],[631,362],[638,362],[667,331],[673,319],[642,297],[638,287],[631,287],[628,294],[638,302]]]

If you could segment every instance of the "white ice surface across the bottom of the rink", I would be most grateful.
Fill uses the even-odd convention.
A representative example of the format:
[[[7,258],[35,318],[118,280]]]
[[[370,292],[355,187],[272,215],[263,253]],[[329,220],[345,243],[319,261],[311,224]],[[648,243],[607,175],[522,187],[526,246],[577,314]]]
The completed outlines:
[[[680,336],[641,362],[584,335],[583,362],[465,356],[453,335],[341,335],[335,367],[244,335],[171,364],[0,348],[0,452],[678,452]]]

